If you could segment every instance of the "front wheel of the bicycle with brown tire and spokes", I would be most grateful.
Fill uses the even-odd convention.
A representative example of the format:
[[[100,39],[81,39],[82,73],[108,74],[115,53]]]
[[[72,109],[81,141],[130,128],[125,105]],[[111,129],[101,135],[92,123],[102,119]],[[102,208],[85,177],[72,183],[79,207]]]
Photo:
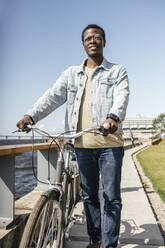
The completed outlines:
[[[19,248],[62,248],[63,226],[59,192],[41,195],[25,226]],[[62,239],[62,242],[61,242]]]

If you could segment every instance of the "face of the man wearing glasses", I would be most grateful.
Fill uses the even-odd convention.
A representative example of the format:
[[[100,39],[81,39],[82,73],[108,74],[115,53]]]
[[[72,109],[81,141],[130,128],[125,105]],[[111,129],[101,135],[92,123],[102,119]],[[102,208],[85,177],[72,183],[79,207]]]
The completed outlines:
[[[105,41],[102,31],[98,28],[89,28],[84,32],[83,46],[88,56],[103,55]]]

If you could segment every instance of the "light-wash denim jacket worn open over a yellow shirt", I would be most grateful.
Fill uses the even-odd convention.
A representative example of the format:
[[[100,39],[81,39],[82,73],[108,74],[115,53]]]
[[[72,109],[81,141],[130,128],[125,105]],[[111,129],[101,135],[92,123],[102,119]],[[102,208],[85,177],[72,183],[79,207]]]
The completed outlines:
[[[53,87],[48,89],[26,113],[35,123],[66,102],[65,130],[76,130],[81,98],[87,80],[84,63],[66,69]],[[112,113],[120,119],[117,132],[121,133],[121,122],[125,118],[128,98],[129,82],[126,69],[104,58],[91,77],[92,125],[100,125],[105,121],[107,114]]]

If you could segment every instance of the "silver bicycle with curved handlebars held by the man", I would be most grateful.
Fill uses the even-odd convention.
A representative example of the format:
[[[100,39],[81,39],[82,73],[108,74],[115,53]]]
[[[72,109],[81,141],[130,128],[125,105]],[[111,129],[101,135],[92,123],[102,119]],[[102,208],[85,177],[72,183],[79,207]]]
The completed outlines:
[[[75,139],[87,132],[107,135],[109,127],[87,128],[75,134],[49,135],[45,131],[25,123],[17,131],[33,130],[40,135],[52,138],[60,146],[56,165],[55,182],[49,181],[48,190],[44,191],[33,208],[25,226],[19,248],[63,248],[65,234],[72,221],[72,213],[79,201],[76,187],[78,169],[71,163],[74,147],[65,139]],[[115,137],[116,138],[116,137]]]

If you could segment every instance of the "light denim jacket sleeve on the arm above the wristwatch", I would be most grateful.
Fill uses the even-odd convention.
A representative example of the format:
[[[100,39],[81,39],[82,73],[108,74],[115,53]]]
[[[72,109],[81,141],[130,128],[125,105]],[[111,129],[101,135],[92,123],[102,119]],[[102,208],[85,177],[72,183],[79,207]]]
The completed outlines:
[[[126,69],[122,66],[113,93],[113,105],[110,113],[123,121],[129,100],[129,81]]]

